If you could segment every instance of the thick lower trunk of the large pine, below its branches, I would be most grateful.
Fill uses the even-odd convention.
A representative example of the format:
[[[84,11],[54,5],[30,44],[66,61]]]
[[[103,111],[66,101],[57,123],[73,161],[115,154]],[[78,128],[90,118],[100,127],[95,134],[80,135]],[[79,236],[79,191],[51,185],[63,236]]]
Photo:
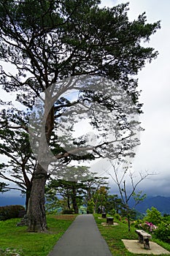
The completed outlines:
[[[31,196],[28,206],[28,231],[46,232],[47,221],[45,215],[45,182],[47,173],[40,165],[34,173]]]

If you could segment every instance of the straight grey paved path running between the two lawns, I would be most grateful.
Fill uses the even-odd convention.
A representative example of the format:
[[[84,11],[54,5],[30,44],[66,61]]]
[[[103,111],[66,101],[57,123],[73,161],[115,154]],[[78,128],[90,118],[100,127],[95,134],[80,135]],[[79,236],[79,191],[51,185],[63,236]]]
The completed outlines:
[[[92,214],[78,215],[48,256],[112,256]]]

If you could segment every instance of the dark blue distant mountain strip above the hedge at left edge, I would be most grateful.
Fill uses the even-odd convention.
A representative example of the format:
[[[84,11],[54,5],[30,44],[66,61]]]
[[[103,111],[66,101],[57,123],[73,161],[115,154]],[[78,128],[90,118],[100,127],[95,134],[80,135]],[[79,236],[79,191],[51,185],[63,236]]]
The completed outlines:
[[[20,205],[25,206],[26,199],[21,196],[8,196],[0,195],[0,206],[12,206],[12,205]]]

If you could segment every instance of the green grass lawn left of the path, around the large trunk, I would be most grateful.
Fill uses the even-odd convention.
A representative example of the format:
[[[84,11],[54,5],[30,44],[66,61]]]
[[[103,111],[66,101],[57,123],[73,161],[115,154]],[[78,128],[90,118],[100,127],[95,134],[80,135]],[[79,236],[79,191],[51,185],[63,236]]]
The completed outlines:
[[[0,255],[15,256],[16,249],[21,256],[47,256],[75,217],[63,216],[63,219],[56,219],[55,216],[47,215],[49,233],[28,233],[26,226],[16,226],[20,219],[0,221]],[[8,253],[4,252],[7,248]]]

